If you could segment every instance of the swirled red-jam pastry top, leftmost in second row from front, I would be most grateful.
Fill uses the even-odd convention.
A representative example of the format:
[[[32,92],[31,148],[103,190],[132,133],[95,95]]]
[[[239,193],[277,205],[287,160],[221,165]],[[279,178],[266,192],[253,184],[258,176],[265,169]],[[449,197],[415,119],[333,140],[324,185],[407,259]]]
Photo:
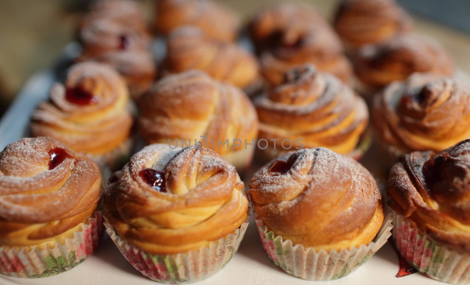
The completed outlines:
[[[73,65],[65,82],[56,83],[50,101],[31,117],[31,134],[49,136],[71,149],[100,155],[129,136],[133,118],[124,80],[111,67],[83,62]]]

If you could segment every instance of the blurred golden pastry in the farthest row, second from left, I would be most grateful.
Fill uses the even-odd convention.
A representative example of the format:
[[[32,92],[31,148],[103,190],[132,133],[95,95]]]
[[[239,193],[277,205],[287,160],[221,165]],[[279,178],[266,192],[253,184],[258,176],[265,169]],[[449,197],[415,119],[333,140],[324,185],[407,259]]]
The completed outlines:
[[[230,42],[237,37],[238,17],[216,1],[158,0],[156,8],[155,29],[163,35],[177,27],[192,25],[221,41]]]

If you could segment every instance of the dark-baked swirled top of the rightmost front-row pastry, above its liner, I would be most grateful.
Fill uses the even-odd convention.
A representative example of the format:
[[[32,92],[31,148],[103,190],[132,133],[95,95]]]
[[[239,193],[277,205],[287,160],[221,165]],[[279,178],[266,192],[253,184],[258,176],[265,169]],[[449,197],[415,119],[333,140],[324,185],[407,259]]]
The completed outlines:
[[[389,204],[446,247],[470,252],[470,140],[439,154],[415,151],[392,167]]]

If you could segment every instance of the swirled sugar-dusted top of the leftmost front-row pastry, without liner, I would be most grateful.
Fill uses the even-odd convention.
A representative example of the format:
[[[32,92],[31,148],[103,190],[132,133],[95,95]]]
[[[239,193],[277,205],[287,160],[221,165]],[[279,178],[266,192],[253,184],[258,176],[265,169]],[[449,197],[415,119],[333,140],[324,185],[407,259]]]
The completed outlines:
[[[101,197],[98,166],[47,137],[0,153],[0,245],[30,246],[73,229]]]

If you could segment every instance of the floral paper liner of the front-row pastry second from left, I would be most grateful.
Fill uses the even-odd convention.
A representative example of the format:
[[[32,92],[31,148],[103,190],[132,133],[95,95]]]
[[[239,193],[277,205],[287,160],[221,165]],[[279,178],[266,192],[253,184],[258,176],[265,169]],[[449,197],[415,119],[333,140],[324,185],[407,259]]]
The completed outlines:
[[[148,253],[121,240],[106,218],[104,225],[125,259],[142,275],[164,284],[187,284],[211,277],[228,263],[240,246],[249,220],[250,215],[235,233],[208,246],[173,255]]]

